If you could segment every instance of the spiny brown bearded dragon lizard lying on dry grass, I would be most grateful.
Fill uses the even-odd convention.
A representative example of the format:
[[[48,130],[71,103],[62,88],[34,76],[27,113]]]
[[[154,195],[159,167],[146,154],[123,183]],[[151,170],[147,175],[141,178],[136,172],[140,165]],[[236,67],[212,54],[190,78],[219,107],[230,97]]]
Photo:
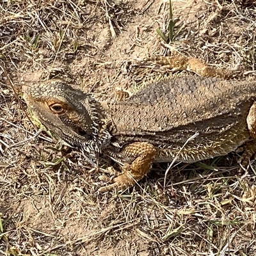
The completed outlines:
[[[153,162],[177,157],[194,163],[245,145],[246,165],[256,152],[255,81],[182,77],[103,104],[52,80],[24,87],[24,99],[46,127],[71,145],[124,164],[113,184],[100,191],[133,186]]]

